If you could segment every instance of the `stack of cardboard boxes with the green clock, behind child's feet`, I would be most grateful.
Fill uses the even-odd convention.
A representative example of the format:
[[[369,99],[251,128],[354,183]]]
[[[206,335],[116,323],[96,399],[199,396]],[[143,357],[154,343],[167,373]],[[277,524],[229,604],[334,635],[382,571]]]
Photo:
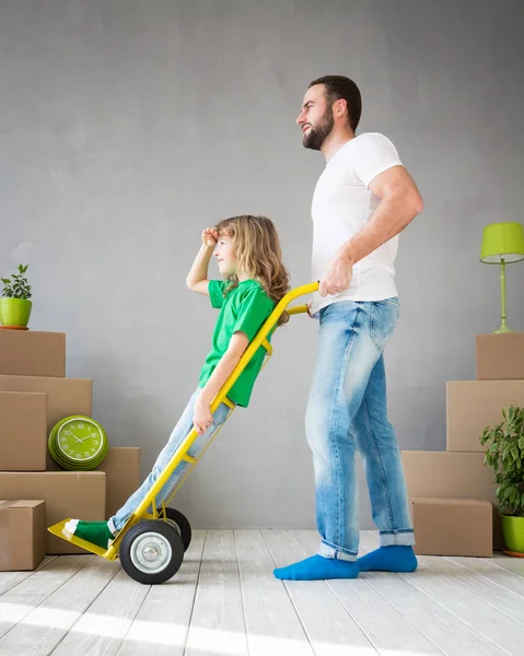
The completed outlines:
[[[65,375],[63,333],[0,330],[0,571],[32,570],[44,553],[83,553],[46,527],[106,519],[140,484],[138,447],[109,447],[93,471],[65,471],[49,456],[59,420],[92,415],[92,380]]]

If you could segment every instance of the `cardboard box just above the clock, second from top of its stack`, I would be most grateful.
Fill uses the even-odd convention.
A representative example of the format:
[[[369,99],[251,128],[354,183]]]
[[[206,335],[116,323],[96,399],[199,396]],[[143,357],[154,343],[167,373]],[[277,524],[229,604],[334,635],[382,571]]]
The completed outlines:
[[[93,383],[90,378],[0,375],[0,391],[43,391],[47,394],[47,435],[53,426],[65,417],[71,414],[91,417],[92,386]]]

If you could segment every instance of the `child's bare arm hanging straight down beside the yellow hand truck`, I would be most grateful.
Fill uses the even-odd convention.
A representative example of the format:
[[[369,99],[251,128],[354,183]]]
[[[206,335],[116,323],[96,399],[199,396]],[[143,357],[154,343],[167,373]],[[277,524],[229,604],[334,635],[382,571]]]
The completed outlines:
[[[209,380],[203,386],[195,405],[195,412],[193,415],[193,423],[199,434],[205,433],[211,425],[213,421],[210,409],[211,401],[238,364],[240,359],[248,344],[249,340],[245,332],[235,332],[230,340],[228,350],[222,355],[220,362],[209,377]]]

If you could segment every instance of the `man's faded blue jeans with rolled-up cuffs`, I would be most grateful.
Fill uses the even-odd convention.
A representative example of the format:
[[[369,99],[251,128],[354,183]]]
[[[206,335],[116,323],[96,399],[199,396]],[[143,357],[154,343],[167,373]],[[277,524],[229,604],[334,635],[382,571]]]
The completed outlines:
[[[356,560],[359,449],[381,546],[414,544],[404,469],[387,421],[383,350],[398,300],[341,301],[319,313],[318,353],[306,412],[313,452],[319,554]]]

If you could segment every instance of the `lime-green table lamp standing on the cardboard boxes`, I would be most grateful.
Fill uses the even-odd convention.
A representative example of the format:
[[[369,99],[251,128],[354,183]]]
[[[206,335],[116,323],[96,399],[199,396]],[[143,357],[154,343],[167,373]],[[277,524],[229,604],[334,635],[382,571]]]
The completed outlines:
[[[484,229],[480,261],[500,265],[501,324],[494,333],[513,332],[505,324],[505,265],[524,259],[524,226],[522,223],[491,223]]]

